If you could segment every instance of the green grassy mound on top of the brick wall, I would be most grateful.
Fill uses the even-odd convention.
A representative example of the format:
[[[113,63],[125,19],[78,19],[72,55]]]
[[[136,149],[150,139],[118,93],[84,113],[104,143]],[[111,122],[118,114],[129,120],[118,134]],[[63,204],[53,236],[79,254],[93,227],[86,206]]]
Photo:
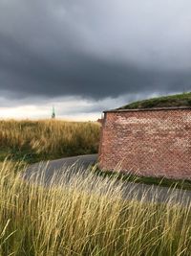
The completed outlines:
[[[191,92],[162,96],[134,102],[129,105],[123,105],[117,109],[135,109],[135,108],[158,108],[158,107],[176,107],[176,106],[190,106],[191,107]]]

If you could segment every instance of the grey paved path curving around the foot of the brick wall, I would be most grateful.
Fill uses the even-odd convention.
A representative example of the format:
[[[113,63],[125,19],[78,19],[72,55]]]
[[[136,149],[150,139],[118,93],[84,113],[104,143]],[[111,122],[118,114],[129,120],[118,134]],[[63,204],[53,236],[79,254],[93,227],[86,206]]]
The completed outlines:
[[[49,162],[41,162],[33,164],[25,173],[24,177],[30,179],[36,178],[37,175],[44,173],[45,182],[56,175],[58,180],[63,174],[68,172],[69,178],[76,173],[84,174],[85,170],[90,165],[96,163],[97,154],[88,154],[74,157],[66,157]],[[70,170],[69,170],[70,169]],[[72,170],[72,171],[71,171]],[[43,172],[44,171],[44,172]],[[118,181],[116,182],[117,186]],[[110,184],[108,184],[110,186]],[[115,184],[114,184],[115,186]],[[123,184],[123,198],[138,200],[144,199],[146,201],[182,203],[184,205],[191,203],[191,191],[180,191],[179,189],[171,190],[167,187],[160,187],[156,185],[146,185],[141,183],[124,182]]]

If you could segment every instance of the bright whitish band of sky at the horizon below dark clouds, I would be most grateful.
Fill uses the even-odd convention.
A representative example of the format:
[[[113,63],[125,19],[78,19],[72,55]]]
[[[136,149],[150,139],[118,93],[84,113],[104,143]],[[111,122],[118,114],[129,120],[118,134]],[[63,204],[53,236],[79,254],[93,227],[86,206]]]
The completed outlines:
[[[153,94],[129,94],[117,98],[105,98],[103,100],[86,100],[81,97],[58,97],[50,100],[32,98],[11,102],[0,98],[0,119],[42,119],[51,118],[54,106],[58,119],[77,121],[96,121],[101,118],[104,110],[114,109],[133,101],[158,96]],[[15,105],[14,105],[15,104]],[[12,106],[14,105],[14,106]]]

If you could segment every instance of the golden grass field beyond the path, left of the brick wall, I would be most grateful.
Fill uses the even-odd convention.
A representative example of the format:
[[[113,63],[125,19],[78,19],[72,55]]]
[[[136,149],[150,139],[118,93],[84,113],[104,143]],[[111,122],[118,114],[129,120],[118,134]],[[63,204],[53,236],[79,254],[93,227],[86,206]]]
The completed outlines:
[[[100,125],[93,122],[0,121],[0,161],[8,155],[27,163],[96,153]]]

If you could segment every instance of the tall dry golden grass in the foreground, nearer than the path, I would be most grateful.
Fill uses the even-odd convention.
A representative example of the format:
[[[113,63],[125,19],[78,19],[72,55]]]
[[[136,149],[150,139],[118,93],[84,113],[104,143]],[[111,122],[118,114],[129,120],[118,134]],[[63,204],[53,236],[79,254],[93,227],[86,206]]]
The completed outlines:
[[[14,168],[0,168],[2,256],[191,255],[190,205],[124,200],[123,183],[88,171],[43,186]]]

